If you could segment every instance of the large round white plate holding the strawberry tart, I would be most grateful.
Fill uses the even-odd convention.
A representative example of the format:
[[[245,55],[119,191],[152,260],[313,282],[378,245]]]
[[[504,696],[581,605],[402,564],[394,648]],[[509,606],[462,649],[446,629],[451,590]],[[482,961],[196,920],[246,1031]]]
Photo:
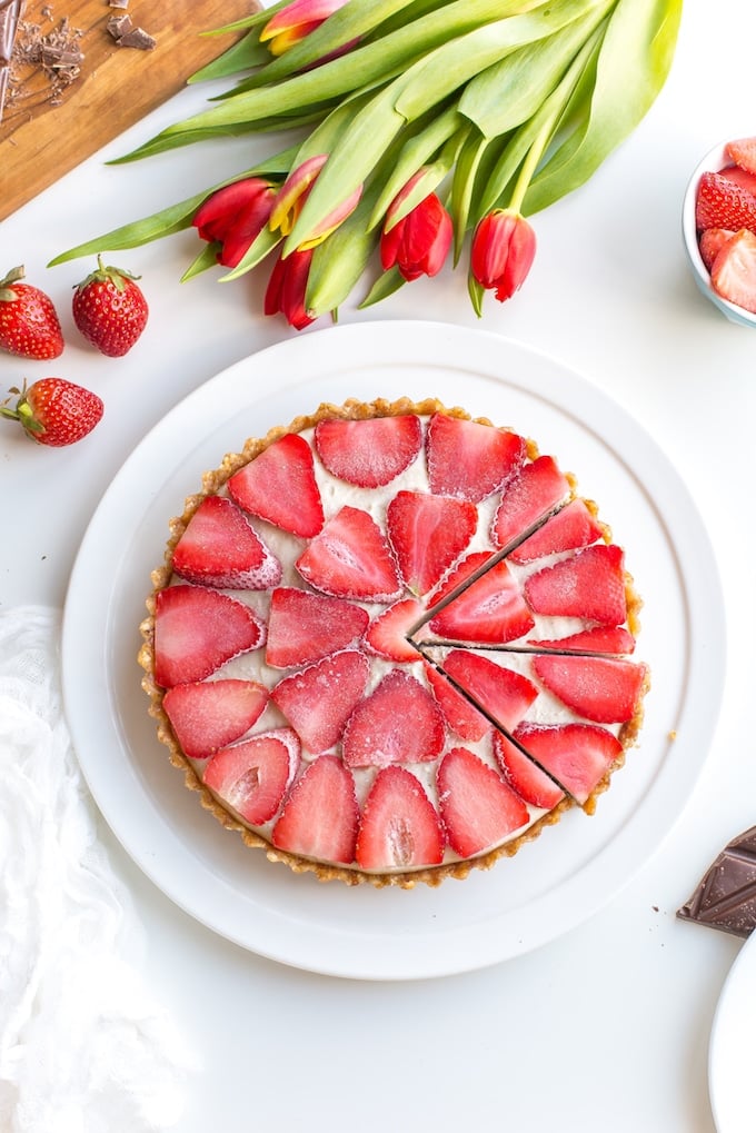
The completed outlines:
[[[515,859],[413,891],[323,885],[273,866],[182,786],[146,713],[136,655],[168,520],[203,471],[247,436],[321,401],[436,397],[537,441],[576,472],[627,548],[644,597],[642,744],[602,798]],[[307,333],[207,382],[138,445],[97,508],[70,580],[63,684],[82,768],[142,870],[222,936],[282,963],[418,979],[506,960],[584,921],[669,833],[704,764],[724,670],[714,559],[674,469],[614,402],[559,363],[498,335],[384,322]]]

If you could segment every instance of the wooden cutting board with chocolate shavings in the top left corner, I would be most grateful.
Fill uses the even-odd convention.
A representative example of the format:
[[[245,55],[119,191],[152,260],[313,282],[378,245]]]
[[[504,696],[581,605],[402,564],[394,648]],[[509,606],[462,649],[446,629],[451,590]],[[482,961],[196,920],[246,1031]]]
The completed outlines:
[[[130,0],[126,14],[155,40],[142,51],[119,46],[108,32],[108,20],[124,15],[108,0],[26,0],[22,19],[43,34],[63,19],[82,32],[84,60],[58,105],[39,67],[19,73],[24,96],[6,105],[0,121],[0,220],[180,91],[240,34],[202,32],[258,8],[256,0]]]

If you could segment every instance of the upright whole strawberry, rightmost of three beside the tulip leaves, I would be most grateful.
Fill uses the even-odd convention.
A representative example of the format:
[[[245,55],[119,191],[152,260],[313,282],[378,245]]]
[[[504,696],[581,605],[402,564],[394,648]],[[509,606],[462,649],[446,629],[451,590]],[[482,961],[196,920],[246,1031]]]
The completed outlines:
[[[128,353],[146,326],[150,314],[137,275],[120,267],[97,270],[74,292],[74,322],[84,338],[109,358]]]

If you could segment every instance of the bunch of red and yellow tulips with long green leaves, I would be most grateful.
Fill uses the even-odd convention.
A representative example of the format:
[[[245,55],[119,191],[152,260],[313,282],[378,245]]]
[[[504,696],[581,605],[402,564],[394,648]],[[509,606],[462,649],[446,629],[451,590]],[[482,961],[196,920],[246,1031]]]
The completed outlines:
[[[301,329],[465,255],[479,315],[535,255],[528,219],[583,185],[645,116],[682,0],[292,0],[219,31],[189,82],[233,85],[120,162],[244,134],[289,144],[237,177],[63,253],[194,227],[182,279],[272,259],[264,308]],[[211,33],[212,34],[212,33]]]

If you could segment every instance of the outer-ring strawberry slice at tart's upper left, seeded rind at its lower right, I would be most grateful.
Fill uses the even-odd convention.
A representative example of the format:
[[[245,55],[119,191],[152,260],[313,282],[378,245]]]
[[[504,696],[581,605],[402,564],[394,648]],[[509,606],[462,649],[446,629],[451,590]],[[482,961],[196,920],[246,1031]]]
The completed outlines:
[[[266,590],[281,564],[231,500],[206,496],[173,548],[173,570],[187,582],[229,590]]]

